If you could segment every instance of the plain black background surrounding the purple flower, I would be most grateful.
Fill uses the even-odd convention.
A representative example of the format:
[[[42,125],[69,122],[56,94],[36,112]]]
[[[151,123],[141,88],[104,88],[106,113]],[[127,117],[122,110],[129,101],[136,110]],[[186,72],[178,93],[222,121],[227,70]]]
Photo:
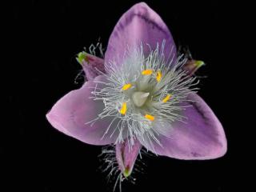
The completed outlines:
[[[1,135],[0,153],[9,191],[111,191],[113,183],[98,170],[100,146],[90,146],[54,130],[45,114],[64,94],[77,89],[81,70],[75,60],[84,46],[101,38],[106,47],[122,14],[137,1],[26,1],[10,5],[8,66],[8,129]],[[226,62],[229,12],[218,1],[147,1],[174,36],[189,46],[206,66],[199,94],[217,114],[228,139],[227,154],[210,161],[145,158],[145,174],[123,191],[229,191],[241,184],[238,156],[233,153],[236,125],[231,74]],[[230,7],[232,9],[232,7]],[[7,75],[6,75],[7,76]],[[4,119],[5,120],[5,119]],[[234,162],[234,159],[237,162]],[[4,169],[6,168],[6,169]],[[4,183],[5,180],[2,180]],[[7,183],[7,182],[5,182]],[[1,186],[4,187],[4,186]]]

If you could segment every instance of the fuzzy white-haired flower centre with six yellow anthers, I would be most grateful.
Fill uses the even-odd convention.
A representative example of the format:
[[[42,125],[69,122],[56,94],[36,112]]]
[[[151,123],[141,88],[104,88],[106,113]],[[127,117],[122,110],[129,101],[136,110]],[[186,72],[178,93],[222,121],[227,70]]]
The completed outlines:
[[[131,147],[134,138],[141,138],[154,151],[155,142],[161,146],[159,134],[170,136],[166,123],[184,122],[181,110],[186,108],[187,95],[196,90],[190,87],[198,82],[182,69],[186,62],[182,56],[165,60],[163,46],[147,56],[142,46],[124,56],[122,63],[110,61],[105,66],[106,82],[98,81],[102,86],[96,84],[92,91],[91,98],[102,100],[105,108],[90,123],[112,119],[104,135],[113,129],[110,137],[118,134],[115,144],[129,138]]]

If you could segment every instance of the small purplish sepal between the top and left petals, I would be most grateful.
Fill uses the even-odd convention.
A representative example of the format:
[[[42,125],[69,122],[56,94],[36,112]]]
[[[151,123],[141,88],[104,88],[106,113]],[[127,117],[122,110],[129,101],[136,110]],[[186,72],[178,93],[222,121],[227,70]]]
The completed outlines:
[[[98,75],[106,73],[104,68],[104,60],[92,54],[86,53],[86,58],[82,61],[82,68],[85,71],[87,80],[92,80]]]

